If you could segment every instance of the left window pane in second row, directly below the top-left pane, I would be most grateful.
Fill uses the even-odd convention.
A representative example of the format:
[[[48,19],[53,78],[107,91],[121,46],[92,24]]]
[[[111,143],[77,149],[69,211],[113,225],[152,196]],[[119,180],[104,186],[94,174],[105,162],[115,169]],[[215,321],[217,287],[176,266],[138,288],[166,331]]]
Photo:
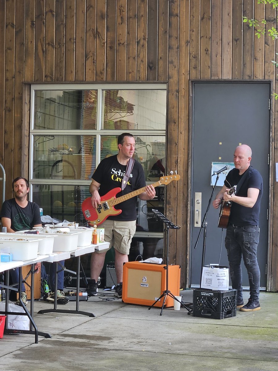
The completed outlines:
[[[82,179],[96,168],[95,135],[34,135],[33,179]]]

